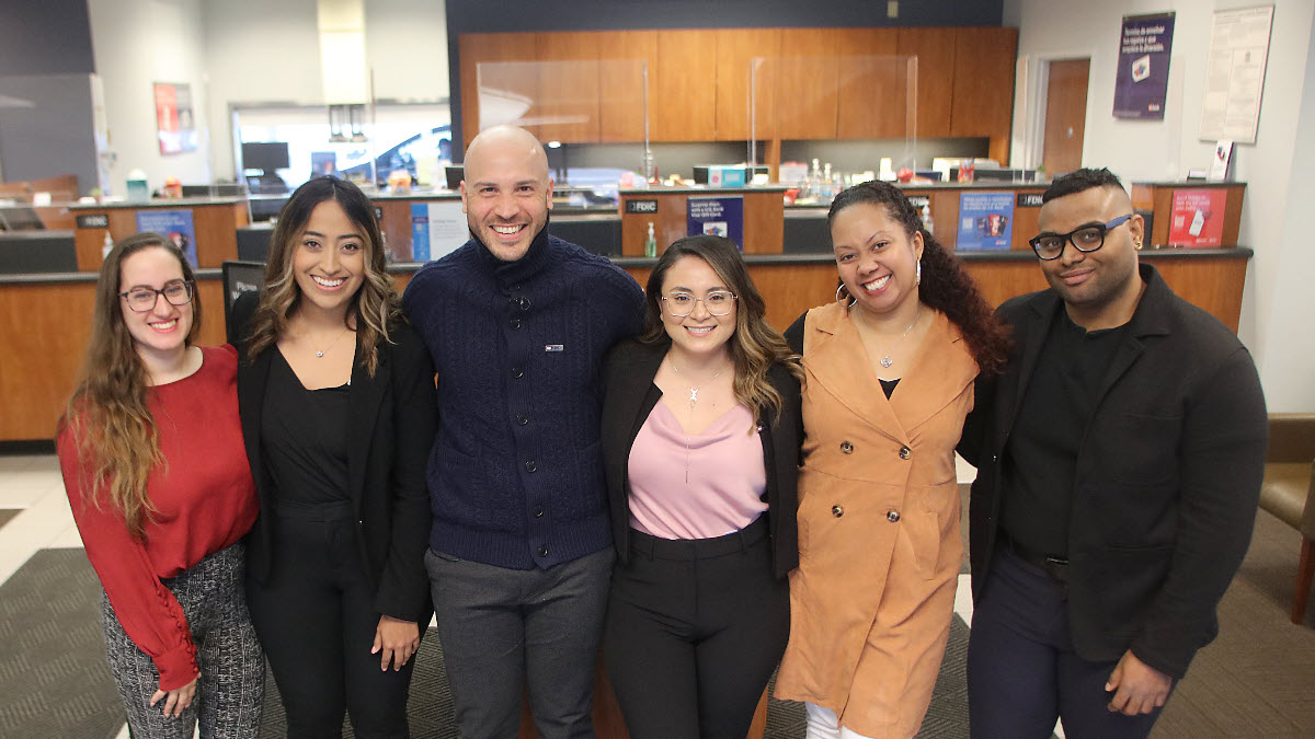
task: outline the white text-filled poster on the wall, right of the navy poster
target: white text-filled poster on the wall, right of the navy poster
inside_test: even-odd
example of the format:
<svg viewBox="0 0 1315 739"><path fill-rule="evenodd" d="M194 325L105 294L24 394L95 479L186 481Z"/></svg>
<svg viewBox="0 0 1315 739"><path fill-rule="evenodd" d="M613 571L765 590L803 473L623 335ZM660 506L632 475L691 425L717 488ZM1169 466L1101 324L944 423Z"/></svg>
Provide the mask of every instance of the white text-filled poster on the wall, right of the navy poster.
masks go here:
<svg viewBox="0 0 1315 739"><path fill-rule="evenodd" d="M1215 11L1206 59L1201 138L1256 143L1274 7Z"/></svg>

